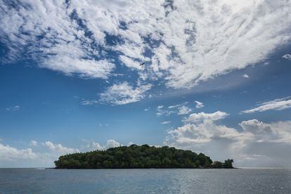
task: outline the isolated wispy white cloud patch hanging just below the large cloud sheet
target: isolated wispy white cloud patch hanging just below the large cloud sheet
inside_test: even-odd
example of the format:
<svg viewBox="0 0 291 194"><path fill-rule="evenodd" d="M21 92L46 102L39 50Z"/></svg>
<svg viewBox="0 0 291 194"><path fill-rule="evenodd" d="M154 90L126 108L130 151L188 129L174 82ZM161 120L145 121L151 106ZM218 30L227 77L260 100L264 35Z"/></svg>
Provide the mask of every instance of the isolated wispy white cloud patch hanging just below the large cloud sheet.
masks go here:
<svg viewBox="0 0 291 194"><path fill-rule="evenodd" d="M101 93L101 102L124 105L141 101L145 97L145 92L151 88L150 84L138 85L136 88L130 86L128 82L114 84L105 93Z"/></svg>

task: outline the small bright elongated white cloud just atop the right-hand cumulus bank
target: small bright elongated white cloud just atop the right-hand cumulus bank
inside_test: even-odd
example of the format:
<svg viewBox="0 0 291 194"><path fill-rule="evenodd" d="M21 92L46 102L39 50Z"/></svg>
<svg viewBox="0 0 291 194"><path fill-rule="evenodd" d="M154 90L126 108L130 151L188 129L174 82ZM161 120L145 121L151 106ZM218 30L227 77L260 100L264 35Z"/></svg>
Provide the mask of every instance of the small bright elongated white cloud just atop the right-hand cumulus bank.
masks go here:
<svg viewBox="0 0 291 194"><path fill-rule="evenodd" d="M227 116L228 114L226 112L221 111L217 111L214 113L199 112L189 115L188 118L183 119L183 122L202 122L204 120L216 121L219 119L224 119Z"/></svg>

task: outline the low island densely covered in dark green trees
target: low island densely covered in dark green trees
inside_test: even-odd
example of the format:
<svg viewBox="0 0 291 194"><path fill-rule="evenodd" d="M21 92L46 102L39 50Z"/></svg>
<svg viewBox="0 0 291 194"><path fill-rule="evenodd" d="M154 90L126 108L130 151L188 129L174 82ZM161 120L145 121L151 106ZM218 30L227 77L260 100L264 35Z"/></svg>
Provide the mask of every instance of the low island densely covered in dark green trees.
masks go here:
<svg viewBox="0 0 291 194"><path fill-rule="evenodd" d="M130 145L62 155L56 169L233 168L233 160L214 161L202 153L168 146Z"/></svg>

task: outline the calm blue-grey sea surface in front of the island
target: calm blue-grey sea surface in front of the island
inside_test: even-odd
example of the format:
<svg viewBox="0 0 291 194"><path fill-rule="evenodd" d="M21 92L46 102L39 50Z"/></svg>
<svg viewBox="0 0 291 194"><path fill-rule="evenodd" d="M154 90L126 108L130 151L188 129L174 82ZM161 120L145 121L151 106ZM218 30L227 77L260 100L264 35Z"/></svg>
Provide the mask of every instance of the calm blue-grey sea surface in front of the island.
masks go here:
<svg viewBox="0 0 291 194"><path fill-rule="evenodd" d="M291 169L0 169L0 193L291 193Z"/></svg>

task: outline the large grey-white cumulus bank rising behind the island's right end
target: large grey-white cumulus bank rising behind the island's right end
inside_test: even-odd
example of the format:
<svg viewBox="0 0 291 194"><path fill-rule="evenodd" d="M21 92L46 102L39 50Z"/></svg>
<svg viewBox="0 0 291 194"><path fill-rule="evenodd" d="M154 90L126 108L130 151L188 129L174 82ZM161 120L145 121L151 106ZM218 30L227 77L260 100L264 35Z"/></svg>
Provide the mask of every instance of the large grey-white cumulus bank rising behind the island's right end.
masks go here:
<svg viewBox="0 0 291 194"><path fill-rule="evenodd" d="M238 167L290 167L291 121L251 119L241 122L239 130L216 124L223 118L203 116L199 122L169 130L165 144L206 153L214 160L234 158Z"/></svg>

